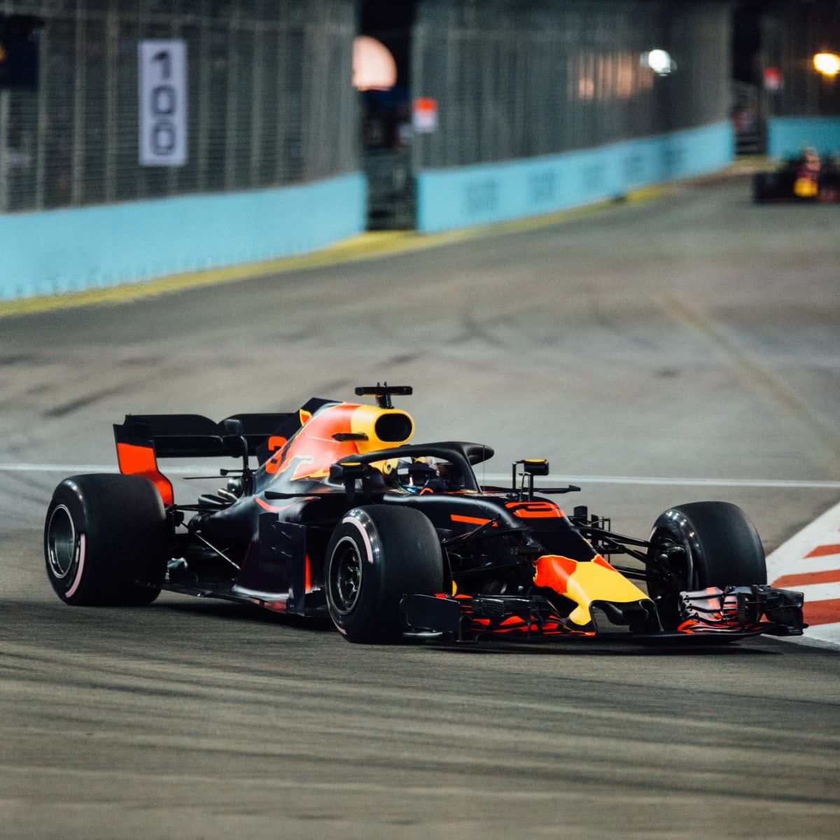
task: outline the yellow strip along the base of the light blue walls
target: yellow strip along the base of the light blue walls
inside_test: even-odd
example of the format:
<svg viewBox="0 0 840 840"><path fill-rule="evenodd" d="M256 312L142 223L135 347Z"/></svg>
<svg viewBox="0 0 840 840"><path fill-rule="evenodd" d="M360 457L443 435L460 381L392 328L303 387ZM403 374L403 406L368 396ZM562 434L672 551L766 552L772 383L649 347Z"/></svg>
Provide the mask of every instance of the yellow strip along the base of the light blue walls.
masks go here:
<svg viewBox="0 0 840 840"><path fill-rule="evenodd" d="M667 186L645 187L628 193L626 201L650 201L663 196L667 190ZM600 202L587 204L584 207L561 210L558 213L515 219L511 222L486 224L475 228L460 228L442 234L423 235L417 234L413 230L372 231L359 234L352 239L345 239L343 242L329 245L327 248L313 251L310 254L281 257L276 260L245 263L244 265L230 265L226 268L188 271L183 274L160 277L156 280L123 283L119 286L109 286L102 289L87 289L86 291L71 291L2 301L0 302L0 318L97 304L114 305L140 300L144 297L155 297L176 291L194 289L199 286L216 286L218 283L285 274L288 271L322 268L327 265L339 265L360 260L373 260L378 257L438 248L441 245L464 242L468 239L483 239L487 236L549 228L555 224L583 218L592 213L599 213L606 210L607 207L612 207L615 203L612 199L604 199Z"/></svg>

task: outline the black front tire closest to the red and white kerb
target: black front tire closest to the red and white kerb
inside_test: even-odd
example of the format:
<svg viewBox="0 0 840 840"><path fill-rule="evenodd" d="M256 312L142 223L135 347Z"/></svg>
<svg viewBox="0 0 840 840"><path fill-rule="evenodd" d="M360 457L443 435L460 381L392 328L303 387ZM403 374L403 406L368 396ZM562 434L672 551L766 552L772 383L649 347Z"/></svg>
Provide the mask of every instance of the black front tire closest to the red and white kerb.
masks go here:
<svg viewBox="0 0 840 840"><path fill-rule="evenodd" d="M671 545L683 549L670 555L670 583L648 576L648 592L654 598L708 586L767 583L759 533L747 514L727 501L671 507L654 522L649 542L651 570L656 570L664 549Z"/></svg>

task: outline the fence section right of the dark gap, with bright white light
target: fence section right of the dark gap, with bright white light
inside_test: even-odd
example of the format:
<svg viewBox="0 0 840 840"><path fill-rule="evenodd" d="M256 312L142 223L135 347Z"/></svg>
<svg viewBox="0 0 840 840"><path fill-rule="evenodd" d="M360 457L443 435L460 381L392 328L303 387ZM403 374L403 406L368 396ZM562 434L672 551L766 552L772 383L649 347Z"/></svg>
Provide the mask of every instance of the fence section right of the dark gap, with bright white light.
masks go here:
<svg viewBox="0 0 840 840"><path fill-rule="evenodd" d="M416 96L439 127L415 141L416 171L584 149L727 119L726 3L422 0ZM667 50L676 70L642 65Z"/></svg>

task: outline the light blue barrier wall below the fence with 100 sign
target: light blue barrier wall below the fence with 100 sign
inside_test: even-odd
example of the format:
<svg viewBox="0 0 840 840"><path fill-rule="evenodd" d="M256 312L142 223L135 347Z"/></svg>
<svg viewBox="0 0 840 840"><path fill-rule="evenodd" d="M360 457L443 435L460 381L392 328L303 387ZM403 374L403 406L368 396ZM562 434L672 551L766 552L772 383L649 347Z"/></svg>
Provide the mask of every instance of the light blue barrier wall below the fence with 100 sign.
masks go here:
<svg viewBox="0 0 840 840"><path fill-rule="evenodd" d="M300 254L365 229L365 176L0 215L0 297Z"/></svg>

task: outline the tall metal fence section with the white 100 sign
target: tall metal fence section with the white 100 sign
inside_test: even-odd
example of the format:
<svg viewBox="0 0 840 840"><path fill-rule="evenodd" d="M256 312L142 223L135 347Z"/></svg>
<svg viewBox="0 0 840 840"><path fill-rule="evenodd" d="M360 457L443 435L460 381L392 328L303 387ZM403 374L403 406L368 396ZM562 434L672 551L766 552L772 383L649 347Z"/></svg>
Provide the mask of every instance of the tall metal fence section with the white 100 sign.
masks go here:
<svg viewBox="0 0 840 840"><path fill-rule="evenodd" d="M0 213L294 184L360 168L354 0L0 0L36 90L0 91ZM187 154L139 165L138 44L183 39Z"/></svg>

